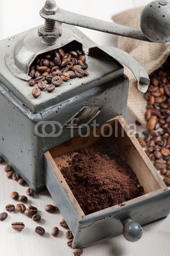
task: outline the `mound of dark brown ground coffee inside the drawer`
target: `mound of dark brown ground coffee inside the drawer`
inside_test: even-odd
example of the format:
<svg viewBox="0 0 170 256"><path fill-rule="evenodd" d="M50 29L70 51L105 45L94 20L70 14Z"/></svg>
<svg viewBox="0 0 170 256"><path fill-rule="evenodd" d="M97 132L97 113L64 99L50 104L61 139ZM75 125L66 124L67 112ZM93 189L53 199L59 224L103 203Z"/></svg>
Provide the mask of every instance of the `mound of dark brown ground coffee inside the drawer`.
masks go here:
<svg viewBox="0 0 170 256"><path fill-rule="evenodd" d="M82 148L69 156L68 166L63 166L61 173L85 214L144 194L132 168L104 145Z"/></svg>

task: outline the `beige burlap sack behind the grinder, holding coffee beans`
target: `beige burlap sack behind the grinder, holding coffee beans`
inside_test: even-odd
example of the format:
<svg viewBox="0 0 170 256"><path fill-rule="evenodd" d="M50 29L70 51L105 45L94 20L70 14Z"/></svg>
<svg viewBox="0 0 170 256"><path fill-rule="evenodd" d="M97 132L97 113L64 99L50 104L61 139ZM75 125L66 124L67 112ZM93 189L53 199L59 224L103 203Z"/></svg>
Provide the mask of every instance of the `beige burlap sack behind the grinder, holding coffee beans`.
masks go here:
<svg viewBox="0 0 170 256"><path fill-rule="evenodd" d="M125 26L140 28L140 16L142 10L143 7L133 8L114 15L112 20ZM144 65L148 74L151 74L161 67L164 61L166 61L170 52L170 43L148 43L118 36L118 48L134 56ZM139 120L139 122L141 122L142 125L145 126L146 120L144 118L144 113L146 111L146 100L143 98L143 93L137 90L132 72L130 72L127 68L125 68L125 72L127 76L130 77L128 110L135 116L137 120Z"/></svg>

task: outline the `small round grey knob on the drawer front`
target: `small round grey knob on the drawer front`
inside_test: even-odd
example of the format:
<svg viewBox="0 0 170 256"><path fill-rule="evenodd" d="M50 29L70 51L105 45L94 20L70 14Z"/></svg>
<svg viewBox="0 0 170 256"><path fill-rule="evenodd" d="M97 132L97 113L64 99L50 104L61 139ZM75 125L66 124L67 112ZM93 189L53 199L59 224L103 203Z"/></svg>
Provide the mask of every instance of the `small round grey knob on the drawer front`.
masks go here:
<svg viewBox="0 0 170 256"><path fill-rule="evenodd" d="M139 241L143 236L143 228L137 222L132 221L130 218L123 221L123 236L128 241L134 243Z"/></svg>

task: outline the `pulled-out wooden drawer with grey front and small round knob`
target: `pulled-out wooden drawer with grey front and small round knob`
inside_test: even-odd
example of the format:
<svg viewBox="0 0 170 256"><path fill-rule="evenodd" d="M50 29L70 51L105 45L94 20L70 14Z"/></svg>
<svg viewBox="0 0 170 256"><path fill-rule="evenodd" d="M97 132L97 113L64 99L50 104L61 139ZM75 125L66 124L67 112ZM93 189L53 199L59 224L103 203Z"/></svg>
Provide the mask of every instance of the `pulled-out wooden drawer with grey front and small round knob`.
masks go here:
<svg viewBox="0 0 170 256"><path fill-rule="evenodd" d="M45 184L72 231L74 248L117 236L122 232L129 241L137 241L142 236L141 225L163 218L170 212L170 191L122 116L95 129L95 135L91 130L88 137L77 136L45 152ZM66 164L66 159L62 156L101 142L111 150L118 147L137 176L139 184L143 186L145 194L86 215L60 171Z"/></svg>

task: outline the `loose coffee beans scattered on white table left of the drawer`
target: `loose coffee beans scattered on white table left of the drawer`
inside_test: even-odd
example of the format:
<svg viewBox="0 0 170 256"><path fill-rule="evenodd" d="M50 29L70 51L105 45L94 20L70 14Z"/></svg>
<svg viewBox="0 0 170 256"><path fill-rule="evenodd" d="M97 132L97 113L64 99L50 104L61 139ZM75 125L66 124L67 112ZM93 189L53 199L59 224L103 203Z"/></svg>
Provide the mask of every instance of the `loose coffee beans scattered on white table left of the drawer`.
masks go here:
<svg viewBox="0 0 170 256"><path fill-rule="evenodd" d="M3 158L0 157L0 163L3 162ZM15 173L12 169L12 167L7 164L6 166L4 166L4 171L7 172L7 176L9 173L10 174L10 178L9 179L13 179L13 174L15 174L15 177L17 177L16 179L13 179L13 180L17 180L19 182L19 180L22 180L20 178L20 176ZM21 182L22 184L21 185L24 185L26 184L26 182L23 180L23 182ZM20 184L20 182L19 182ZM27 188L26 190L26 194L27 196L33 196L35 193L35 191L32 189L32 188ZM19 193L17 191L13 191L11 194L10 194L11 198L15 201L19 201L21 203L17 204L16 206L13 205L13 204L8 204L6 205L5 209L7 212L15 212L15 210L17 212L20 212L22 214L24 214L25 216L27 216L28 218L32 218L33 221L35 222L39 222L41 221L41 216L38 214L38 209L33 206L33 205L24 205L23 203L27 203L27 196L20 196ZM54 213L56 211L59 211L58 207L56 205L45 205L45 211L46 212L49 212L49 213ZM7 218L8 218L8 213L7 212L1 212L0 213L0 221L5 221ZM63 228L67 228L68 229L68 225L66 223L66 221L63 219L59 225ZM18 232L22 231L25 227L25 224L21 221L19 222L13 222L11 224L11 227L13 228L13 230L16 230ZM36 227L35 228L35 232L36 234L38 234L39 236L43 236L43 234L45 234L45 229L43 227ZM52 230L51 230L51 235L53 237L58 237L58 234L59 234L59 228L58 227L53 227ZM72 232L70 230L68 230L66 232L66 238L69 239L68 242L67 242L67 246L70 246L72 248L72 241L73 241L73 235L72 235ZM83 253L83 250L82 248L75 248L73 249L73 255L81 255Z"/></svg>

